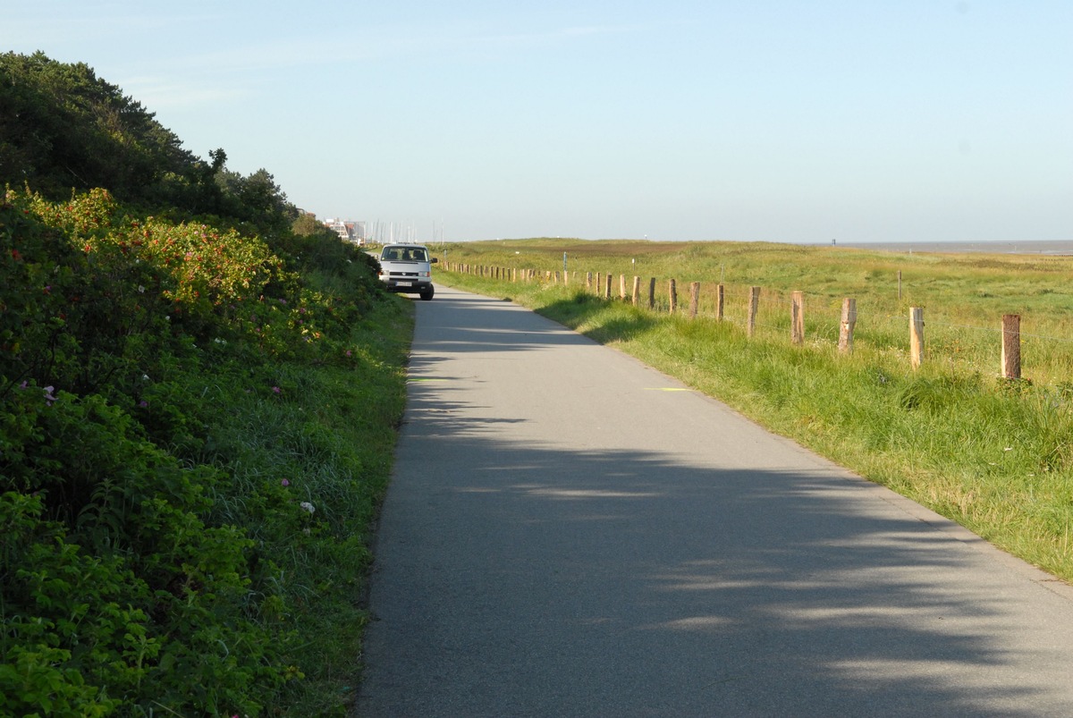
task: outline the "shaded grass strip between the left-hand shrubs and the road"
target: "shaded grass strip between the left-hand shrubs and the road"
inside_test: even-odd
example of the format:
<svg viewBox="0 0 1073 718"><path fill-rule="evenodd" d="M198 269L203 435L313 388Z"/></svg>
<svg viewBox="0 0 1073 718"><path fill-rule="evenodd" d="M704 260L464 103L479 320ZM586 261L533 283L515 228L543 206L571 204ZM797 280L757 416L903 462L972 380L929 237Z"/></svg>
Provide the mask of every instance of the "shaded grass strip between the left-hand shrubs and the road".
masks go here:
<svg viewBox="0 0 1073 718"><path fill-rule="evenodd" d="M273 597L259 618L280 627L303 678L266 706L273 715L341 716L353 700L371 530L406 404L412 328L410 304L392 297L353 327L351 366L229 363L210 382L191 378L191 390L218 394L204 458L231 484L215 497L217 519L248 527L252 551L271 565L252 587Z"/></svg>

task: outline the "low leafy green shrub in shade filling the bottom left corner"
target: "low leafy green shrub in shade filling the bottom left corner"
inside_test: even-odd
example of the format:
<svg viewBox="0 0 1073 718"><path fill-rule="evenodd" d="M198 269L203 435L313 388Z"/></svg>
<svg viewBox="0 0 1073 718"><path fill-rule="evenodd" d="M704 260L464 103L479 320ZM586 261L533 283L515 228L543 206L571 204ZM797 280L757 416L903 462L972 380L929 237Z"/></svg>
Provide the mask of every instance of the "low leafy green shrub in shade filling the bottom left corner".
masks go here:
<svg viewBox="0 0 1073 718"><path fill-rule="evenodd" d="M255 712L282 671L241 610L250 540L201 518L223 477L179 466L98 396L27 387L5 408L23 426L4 426L0 463L4 707L56 715L62 687L105 706Z"/></svg>

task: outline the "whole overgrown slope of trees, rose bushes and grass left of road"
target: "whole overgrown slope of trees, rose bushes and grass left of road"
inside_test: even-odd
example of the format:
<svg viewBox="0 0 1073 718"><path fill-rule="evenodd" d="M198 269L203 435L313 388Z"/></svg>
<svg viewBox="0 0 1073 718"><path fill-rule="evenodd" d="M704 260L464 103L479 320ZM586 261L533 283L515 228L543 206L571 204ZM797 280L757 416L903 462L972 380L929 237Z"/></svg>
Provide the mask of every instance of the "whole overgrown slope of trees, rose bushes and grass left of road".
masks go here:
<svg viewBox="0 0 1073 718"><path fill-rule="evenodd" d="M344 715L409 303L86 65L0 107L0 715Z"/></svg>

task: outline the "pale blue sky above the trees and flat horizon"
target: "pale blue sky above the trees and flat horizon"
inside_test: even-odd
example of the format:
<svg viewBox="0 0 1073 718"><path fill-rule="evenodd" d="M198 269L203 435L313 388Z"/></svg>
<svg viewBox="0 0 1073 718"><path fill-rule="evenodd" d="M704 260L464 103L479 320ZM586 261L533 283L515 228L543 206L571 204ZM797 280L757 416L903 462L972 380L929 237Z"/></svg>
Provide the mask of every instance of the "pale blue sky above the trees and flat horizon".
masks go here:
<svg viewBox="0 0 1073 718"><path fill-rule="evenodd" d="M431 239L1073 239L1070 0L2 0L319 217Z"/></svg>

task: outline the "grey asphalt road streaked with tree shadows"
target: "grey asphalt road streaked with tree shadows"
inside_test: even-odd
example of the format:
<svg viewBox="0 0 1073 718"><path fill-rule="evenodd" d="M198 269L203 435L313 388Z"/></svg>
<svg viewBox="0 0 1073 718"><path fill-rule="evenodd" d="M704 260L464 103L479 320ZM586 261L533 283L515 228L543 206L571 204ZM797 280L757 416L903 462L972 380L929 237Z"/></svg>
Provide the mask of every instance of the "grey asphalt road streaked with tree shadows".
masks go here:
<svg viewBox="0 0 1073 718"><path fill-rule="evenodd" d="M1073 715L1064 584L526 309L416 309L358 716Z"/></svg>

